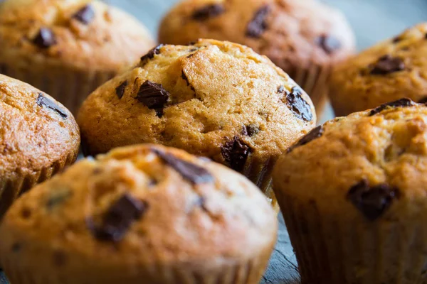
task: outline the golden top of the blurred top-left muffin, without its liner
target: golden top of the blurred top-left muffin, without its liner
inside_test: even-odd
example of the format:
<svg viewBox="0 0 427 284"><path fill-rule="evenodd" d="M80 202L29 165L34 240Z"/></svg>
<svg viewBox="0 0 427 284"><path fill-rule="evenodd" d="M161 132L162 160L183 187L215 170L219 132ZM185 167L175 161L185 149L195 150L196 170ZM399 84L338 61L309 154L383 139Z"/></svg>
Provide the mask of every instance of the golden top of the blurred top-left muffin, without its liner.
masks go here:
<svg viewBox="0 0 427 284"><path fill-rule="evenodd" d="M101 1L6 0L0 4L1 57L95 70L132 65L154 46L135 18Z"/></svg>

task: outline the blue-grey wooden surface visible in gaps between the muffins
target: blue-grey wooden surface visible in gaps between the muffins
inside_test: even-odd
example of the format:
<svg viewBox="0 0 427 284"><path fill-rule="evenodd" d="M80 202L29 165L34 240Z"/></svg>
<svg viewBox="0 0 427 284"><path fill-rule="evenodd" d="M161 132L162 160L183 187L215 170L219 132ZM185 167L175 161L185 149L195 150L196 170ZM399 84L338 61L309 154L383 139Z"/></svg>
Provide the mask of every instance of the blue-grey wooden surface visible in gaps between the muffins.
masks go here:
<svg viewBox="0 0 427 284"><path fill-rule="evenodd" d="M156 35L159 19L176 0L105 0L139 18ZM342 9L357 35L359 49L400 33L404 28L427 20L426 0L325 0ZM321 121L332 118L327 111ZM263 277L263 284L300 283L295 255L290 245L283 217L279 217L278 244ZM0 284L7 284L0 272Z"/></svg>

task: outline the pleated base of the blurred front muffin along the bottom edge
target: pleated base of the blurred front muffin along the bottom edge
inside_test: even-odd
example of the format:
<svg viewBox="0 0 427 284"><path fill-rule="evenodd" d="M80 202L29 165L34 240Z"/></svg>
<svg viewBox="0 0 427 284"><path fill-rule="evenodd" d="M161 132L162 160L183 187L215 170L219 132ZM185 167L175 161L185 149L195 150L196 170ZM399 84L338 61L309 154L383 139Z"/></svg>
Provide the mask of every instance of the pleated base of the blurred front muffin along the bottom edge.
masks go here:
<svg viewBox="0 0 427 284"><path fill-rule="evenodd" d="M273 247L271 248L273 249ZM122 280L132 281L132 283L180 283L180 284L258 284L268 265L270 251L265 251L262 256L253 258L249 261L244 261L240 264L231 264L223 266L221 269L195 269L185 268L184 266L169 267L157 265L155 267L146 268L140 271L141 274L135 279L127 279L123 276ZM56 269L43 269L45 273L38 269L31 269L21 266L21 263L16 263L5 256L3 258L4 271L7 278L14 284L78 284L78 283L101 283L102 284L117 284L117 275L108 280L108 271L99 271L97 278L96 271L92 271L87 275L84 273L64 273L58 272ZM85 271L82 267L82 271ZM83 275L83 276L82 276ZM144 277L142 277L144 276ZM83 278L84 277L84 278ZM60 280L59 280L60 279ZM106 280L107 279L107 280Z"/></svg>

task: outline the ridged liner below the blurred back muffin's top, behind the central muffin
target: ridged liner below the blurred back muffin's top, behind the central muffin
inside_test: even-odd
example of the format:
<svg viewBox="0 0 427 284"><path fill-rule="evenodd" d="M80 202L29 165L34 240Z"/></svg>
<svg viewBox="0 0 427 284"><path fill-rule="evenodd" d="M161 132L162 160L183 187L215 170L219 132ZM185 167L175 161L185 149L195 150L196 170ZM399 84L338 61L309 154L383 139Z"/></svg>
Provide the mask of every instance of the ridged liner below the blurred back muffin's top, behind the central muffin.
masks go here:
<svg viewBox="0 0 427 284"><path fill-rule="evenodd" d="M288 75L304 89L315 105L317 118L320 118L325 110L329 92L328 80L332 72L329 65L312 65L309 68L288 70Z"/></svg>

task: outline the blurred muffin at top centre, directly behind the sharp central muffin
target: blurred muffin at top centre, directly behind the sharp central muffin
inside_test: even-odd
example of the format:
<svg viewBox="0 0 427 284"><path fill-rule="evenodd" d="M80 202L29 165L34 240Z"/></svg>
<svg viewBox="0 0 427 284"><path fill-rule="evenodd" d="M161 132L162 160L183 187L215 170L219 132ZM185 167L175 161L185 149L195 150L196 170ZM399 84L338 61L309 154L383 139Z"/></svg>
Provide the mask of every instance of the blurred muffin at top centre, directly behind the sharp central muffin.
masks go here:
<svg viewBox="0 0 427 284"><path fill-rule="evenodd" d="M341 12L314 0L185 0L164 17L160 43L230 40L267 55L310 95L320 116L332 65L354 52Z"/></svg>

